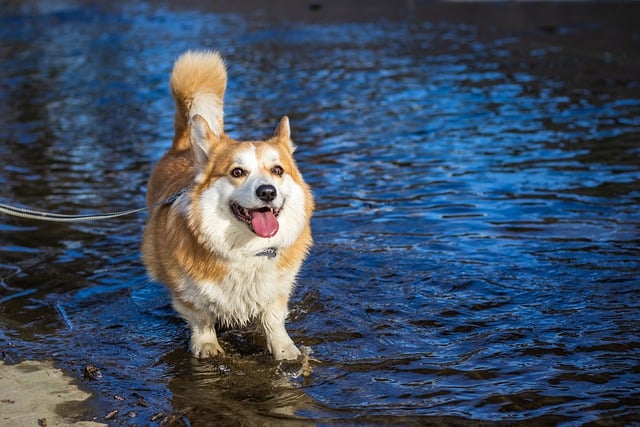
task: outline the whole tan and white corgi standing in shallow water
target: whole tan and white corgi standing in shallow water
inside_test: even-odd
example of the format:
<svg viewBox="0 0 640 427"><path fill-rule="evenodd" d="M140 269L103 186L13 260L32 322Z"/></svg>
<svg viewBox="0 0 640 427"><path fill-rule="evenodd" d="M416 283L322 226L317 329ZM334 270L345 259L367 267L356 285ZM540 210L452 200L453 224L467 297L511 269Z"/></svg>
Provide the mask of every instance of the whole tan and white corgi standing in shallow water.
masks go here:
<svg viewBox="0 0 640 427"><path fill-rule="evenodd" d="M224 353L216 327L255 323L274 359L296 359L285 319L312 244L313 197L286 116L265 140L224 133L226 84L217 52L187 51L174 64L175 135L149 178L143 261L171 290L195 357Z"/></svg>

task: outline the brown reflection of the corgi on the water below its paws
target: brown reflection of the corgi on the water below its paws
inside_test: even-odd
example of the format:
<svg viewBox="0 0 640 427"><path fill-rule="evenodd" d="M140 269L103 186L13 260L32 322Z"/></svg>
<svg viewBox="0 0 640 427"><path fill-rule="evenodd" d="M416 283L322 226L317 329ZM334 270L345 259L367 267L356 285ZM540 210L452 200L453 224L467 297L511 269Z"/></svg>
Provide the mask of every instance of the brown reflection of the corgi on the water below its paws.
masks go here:
<svg viewBox="0 0 640 427"><path fill-rule="evenodd" d="M314 364L308 349L296 361L274 361L262 339L228 330L220 334L224 355L197 359L186 348L165 355L175 369L168 387L176 425L268 425L317 410L303 390Z"/></svg>

